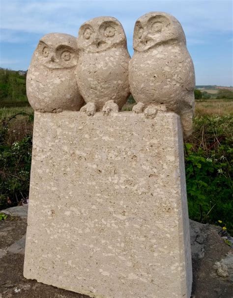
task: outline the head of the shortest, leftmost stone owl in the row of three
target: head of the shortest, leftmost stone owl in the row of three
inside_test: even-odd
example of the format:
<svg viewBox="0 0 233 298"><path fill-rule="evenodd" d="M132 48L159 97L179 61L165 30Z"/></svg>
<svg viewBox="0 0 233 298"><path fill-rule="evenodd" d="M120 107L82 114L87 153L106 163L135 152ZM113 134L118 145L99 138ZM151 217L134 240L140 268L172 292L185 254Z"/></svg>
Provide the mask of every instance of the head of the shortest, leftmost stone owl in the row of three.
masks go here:
<svg viewBox="0 0 233 298"><path fill-rule="evenodd" d="M44 35L40 39L32 58L32 64L39 64L50 69L74 67L77 61L76 38L62 33Z"/></svg>

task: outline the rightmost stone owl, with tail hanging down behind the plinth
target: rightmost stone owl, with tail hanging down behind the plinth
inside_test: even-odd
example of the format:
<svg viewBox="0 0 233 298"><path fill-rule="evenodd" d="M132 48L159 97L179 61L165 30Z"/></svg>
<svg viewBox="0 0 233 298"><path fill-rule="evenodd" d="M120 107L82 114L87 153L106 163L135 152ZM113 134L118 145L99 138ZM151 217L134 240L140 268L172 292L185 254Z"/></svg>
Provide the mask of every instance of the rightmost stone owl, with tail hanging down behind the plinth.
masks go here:
<svg viewBox="0 0 233 298"><path fill-rule="evenodd" d="M180 115L184 136L192 133L195 73L180 23L164 12L140 17L134 27L134 55L129 64L136 113L157 110Z"/></svg>

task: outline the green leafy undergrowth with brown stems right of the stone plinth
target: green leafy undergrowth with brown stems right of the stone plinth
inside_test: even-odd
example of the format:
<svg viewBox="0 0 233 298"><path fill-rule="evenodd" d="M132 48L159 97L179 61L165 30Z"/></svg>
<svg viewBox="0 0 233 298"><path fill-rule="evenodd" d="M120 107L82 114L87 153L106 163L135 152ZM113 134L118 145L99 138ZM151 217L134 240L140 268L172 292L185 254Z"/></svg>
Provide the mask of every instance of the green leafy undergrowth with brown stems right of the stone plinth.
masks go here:
<svg viewBox="0 0 233 298"><path fill-rule="evenodd" d="M233 119L199 117L194 130L192 143L185 144L189 217L211 224L221 221L233 234Z"/></svg>

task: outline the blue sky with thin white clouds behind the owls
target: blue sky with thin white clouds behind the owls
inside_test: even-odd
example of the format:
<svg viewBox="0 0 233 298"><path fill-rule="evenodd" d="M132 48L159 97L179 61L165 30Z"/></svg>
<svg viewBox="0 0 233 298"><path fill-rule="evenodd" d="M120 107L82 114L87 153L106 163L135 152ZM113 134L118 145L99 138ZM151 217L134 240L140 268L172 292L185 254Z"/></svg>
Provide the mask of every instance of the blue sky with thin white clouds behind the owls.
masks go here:
<svg viewBox="0 0 233 298"><path fill-rule="evenodd" d="M0 0L0 67L26 70L42 35L77 36L81 24L104 15L122 23L132 56L135 21L149 11L180 21L197 85L233 85L232 0Z"/></svg>

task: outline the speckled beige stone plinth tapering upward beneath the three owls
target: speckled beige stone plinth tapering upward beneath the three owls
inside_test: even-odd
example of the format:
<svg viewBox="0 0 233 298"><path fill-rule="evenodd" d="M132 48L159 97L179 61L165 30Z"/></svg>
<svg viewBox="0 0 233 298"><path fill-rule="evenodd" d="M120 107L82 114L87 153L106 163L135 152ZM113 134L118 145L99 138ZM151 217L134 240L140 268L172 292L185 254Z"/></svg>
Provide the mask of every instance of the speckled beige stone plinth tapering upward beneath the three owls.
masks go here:
<svg viewBox="0 0 233 298"><path fill-rule="evenodd" d="M24 276L96 298L190 297L179 116L35 112Z"/></svg>

